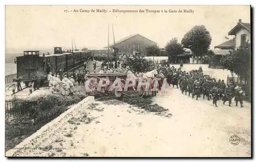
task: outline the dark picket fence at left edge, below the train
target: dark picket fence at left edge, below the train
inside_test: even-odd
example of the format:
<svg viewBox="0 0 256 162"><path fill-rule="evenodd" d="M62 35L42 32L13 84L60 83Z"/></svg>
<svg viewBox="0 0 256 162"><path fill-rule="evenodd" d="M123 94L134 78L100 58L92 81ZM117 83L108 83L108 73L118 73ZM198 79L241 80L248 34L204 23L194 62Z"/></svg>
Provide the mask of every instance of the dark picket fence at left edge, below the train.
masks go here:
<svg viewBox="0 0 256 162"><path fill-rule="evenodd" d="M29 115L37 109L37 101L30 102L5 102L6 118L19 115Z"/></svg>

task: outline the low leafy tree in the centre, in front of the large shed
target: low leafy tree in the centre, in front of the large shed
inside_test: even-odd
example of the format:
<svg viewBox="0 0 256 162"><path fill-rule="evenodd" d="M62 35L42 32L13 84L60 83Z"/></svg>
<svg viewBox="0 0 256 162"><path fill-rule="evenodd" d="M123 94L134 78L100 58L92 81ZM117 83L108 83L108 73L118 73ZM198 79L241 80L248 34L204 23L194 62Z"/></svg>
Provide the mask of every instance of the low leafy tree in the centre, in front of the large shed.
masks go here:
<svg viewBox="0 0 256 162"><path fill-rule="evenodd" d="M125 62L134 74L139 76L140 73L145 73L156 69L156 63L153 60L147 60L144 56L134 55L133 58L126 58Z"/></svg>

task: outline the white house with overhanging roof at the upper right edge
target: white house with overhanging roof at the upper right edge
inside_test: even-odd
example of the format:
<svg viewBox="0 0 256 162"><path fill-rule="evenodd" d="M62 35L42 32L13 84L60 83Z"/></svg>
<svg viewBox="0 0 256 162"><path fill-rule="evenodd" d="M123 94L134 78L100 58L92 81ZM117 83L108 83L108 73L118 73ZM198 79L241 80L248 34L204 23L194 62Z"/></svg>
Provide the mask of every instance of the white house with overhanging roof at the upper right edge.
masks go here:
<svg viewBox="0 0 256 162"><path fill-rule="evenodd" d="M242 22L242 19L239 19L238 24L228 32L228 35L234 36L234 44L238 48L247 41L251 41L251 24Z"/></svg>

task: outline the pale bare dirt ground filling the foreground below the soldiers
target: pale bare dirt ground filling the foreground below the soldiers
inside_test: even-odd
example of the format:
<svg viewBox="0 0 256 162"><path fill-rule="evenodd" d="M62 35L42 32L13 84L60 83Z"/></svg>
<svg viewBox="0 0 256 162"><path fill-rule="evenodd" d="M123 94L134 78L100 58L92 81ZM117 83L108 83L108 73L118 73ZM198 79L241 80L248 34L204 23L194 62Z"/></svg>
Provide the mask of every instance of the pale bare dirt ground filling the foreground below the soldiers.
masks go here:
<svg viewBox="0 0 256 162"><path fill-rule="evenodd" d="M153 100L172 113L164 118L152 113L141 114L130 105L99 105L82 110L74 117L79 125L67 122L40 147L63 147L62 150L22 150L18 156L251 156L251 105L245 107L212 105L169 88ZM96 117L91 123L84 114ZM69 136L65 135L69 133ZM232 135L240 138L231 145ZM30 144L30 146L33 146Z"/></svg>

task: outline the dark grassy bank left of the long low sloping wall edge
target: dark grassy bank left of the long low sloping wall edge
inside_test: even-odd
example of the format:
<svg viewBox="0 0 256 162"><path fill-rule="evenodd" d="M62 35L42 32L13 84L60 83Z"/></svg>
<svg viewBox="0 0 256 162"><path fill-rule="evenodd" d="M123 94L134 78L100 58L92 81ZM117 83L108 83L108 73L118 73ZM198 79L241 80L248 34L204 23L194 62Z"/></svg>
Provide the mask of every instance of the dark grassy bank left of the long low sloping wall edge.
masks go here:
<svg viewBox="0 0 256 162"><path fill-rule="evenodd" d="M78 89L73 96L46 95L37 96L30 99L14 98L13 101L37 101L37 109L31 111L33 114L6 118L5 120L5 145L6 151L15 147L31 134L35 133L42 126L49 123L63 112L70 108L70 105L78 103L86 97L83 87ZM71 121L69 121L71 122ZM79 123L75 123L79 125Z"/></svg>

